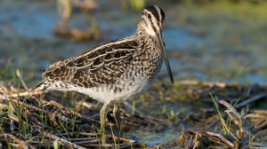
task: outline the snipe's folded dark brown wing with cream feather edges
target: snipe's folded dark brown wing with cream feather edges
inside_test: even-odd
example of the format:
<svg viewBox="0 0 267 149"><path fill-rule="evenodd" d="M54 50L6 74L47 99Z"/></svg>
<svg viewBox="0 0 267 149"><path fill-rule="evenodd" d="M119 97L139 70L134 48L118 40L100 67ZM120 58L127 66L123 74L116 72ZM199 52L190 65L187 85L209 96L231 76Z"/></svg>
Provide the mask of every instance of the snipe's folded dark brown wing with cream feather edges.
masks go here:
<svg viewBox="0 0 267 149"><path fill-rule="evenodd" d="M77 57L54 63L44 70L51 81L94 87L115 82L134 59L138 44L120 39L85 51Z"/></svg>

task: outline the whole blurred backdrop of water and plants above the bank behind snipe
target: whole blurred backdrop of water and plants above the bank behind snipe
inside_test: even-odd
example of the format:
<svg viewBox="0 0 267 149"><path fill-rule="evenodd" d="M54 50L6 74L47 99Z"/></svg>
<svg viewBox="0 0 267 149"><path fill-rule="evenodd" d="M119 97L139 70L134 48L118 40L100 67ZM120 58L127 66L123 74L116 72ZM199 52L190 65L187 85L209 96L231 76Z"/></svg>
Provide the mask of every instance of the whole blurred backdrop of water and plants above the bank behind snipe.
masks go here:
<svg viewBox="0 0 267 149"><path fill-rule="evenodd" d="M166 12L163 39L176 83L266 84L263 0L1 0L0 80L15 82L19 68L34 86L52 63L133 35L150 4Z"/></svg>

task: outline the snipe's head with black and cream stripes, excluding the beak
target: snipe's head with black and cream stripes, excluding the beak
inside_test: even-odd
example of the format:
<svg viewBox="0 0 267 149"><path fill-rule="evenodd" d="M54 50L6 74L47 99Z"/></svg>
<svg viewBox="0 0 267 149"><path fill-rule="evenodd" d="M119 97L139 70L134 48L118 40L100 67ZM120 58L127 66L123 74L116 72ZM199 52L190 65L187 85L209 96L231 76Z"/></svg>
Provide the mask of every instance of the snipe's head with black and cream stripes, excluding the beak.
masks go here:
<svg viewBox="0 0 267 149"><path fill-rule="evenodd" d="M142 12L141 19L138 24L138 30L145 30L149 35L156 35L162 31L165 13L157 5L152 5Z"/></svg>

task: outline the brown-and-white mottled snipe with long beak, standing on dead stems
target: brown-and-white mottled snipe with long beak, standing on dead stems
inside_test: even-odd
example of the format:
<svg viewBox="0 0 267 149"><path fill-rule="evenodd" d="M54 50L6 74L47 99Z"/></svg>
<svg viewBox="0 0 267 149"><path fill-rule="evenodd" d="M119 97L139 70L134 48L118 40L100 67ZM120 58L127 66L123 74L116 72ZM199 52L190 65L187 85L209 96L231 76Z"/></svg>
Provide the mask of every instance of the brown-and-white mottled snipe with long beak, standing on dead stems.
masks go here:
<svg viewBox="0 0 267 149"><path fill-rule="evenodd" d="M43 71L38 90L77 91L103 103L100 111L101 142L109 103L118 121L119 102L138 98L150 88L165 61L170 81L174 77L162 39L165 12L158 5L146 7L134 35L95 46L76 57L58 61Z"/></svg>

